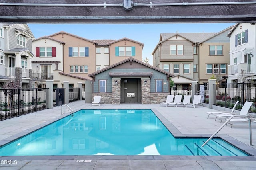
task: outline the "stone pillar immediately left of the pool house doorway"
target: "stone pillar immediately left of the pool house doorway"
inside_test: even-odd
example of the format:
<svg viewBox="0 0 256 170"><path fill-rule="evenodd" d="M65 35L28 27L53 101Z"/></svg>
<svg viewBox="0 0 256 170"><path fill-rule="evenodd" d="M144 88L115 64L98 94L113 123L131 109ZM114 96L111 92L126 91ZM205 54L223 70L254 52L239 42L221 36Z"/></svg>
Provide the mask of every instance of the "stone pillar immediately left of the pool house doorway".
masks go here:
<svg viewBox="0 0 256 170"><path fill-rule="evenodd" d="M112 104L120 104L120 103L121 103L121 78L112 78Z"/></svg>

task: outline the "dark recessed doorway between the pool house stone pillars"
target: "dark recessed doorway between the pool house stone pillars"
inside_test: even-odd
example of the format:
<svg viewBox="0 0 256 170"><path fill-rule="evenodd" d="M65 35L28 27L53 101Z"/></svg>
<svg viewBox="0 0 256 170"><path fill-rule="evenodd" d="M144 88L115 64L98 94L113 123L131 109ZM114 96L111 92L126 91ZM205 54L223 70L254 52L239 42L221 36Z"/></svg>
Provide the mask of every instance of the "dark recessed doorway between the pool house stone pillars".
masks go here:
<svg viewBox="0 0 256 170"><path fill-rule="evenodd" d="M141 102L140 78L121 78L121 102Z"/></svg>

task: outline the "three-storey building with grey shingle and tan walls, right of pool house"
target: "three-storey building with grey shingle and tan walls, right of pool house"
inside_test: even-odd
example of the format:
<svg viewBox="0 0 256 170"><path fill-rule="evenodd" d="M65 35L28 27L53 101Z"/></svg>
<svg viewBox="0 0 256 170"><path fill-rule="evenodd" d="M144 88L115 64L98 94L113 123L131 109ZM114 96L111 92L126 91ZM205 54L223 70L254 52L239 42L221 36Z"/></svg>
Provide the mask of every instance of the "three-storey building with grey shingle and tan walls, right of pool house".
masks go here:
<svg viewBox="0 0 256 170"><path fill-rule="evenodd" d="M174 86L184 89L192 81L207 83L213 74L228 74L228 27L218 33L161 33L153 65L174 74Z"/></svg>

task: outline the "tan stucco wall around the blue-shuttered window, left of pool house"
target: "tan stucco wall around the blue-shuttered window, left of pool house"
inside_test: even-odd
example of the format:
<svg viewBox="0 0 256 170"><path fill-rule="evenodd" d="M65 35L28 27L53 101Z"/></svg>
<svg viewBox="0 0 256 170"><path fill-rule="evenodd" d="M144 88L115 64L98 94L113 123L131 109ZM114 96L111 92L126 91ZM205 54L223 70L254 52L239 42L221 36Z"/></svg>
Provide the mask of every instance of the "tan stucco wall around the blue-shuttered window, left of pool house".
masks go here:
<svg viewBox="0 0 256 170"><path fill-rule="evenodd" d="M67 74L72 74L74 76L82 76L88 78L88 74L95 72L95 45L90 41L85 39L74 37L68 34L57 34L53 35L52 38L58 39L59 41L64 41L63 50L63 71ZM69 47L89 47L89 57L69 57L68 48ZM88 65L88 73L70 73L70 65Z"/></svg>

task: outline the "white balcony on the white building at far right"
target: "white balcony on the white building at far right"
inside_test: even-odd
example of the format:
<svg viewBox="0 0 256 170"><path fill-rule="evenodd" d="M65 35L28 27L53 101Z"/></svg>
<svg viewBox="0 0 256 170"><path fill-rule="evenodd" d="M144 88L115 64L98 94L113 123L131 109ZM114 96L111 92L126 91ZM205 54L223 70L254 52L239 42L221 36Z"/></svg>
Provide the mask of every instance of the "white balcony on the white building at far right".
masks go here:
<svg viewBox="0 0 256 170"><path fill-rule="evenodd" d="M228 66L230 74L241 74L241 70L245 70L245 73L255 73L255 64L239 63Z"/></svg>

